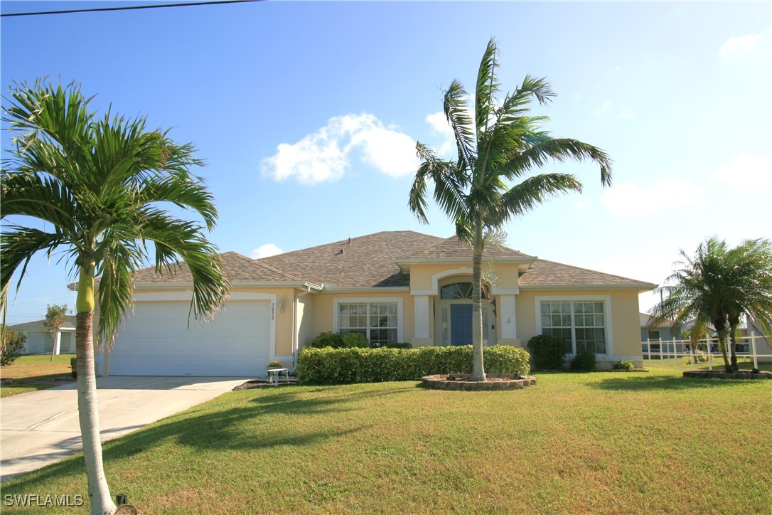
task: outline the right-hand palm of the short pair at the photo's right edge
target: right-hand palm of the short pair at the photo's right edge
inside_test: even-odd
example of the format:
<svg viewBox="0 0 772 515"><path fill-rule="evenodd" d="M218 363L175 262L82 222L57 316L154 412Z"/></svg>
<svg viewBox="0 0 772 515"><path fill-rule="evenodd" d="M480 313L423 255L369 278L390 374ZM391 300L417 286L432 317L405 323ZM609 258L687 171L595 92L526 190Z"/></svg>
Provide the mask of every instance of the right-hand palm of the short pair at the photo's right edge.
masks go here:
<svg viewBox="0 0 772 515"><path fill-rule="evenodd" d="M767 334L772 326L772 242L745 240L727 252L726 316L730 326L730 362L737 371L736 332L743 313L757 320Z"/></svg>

